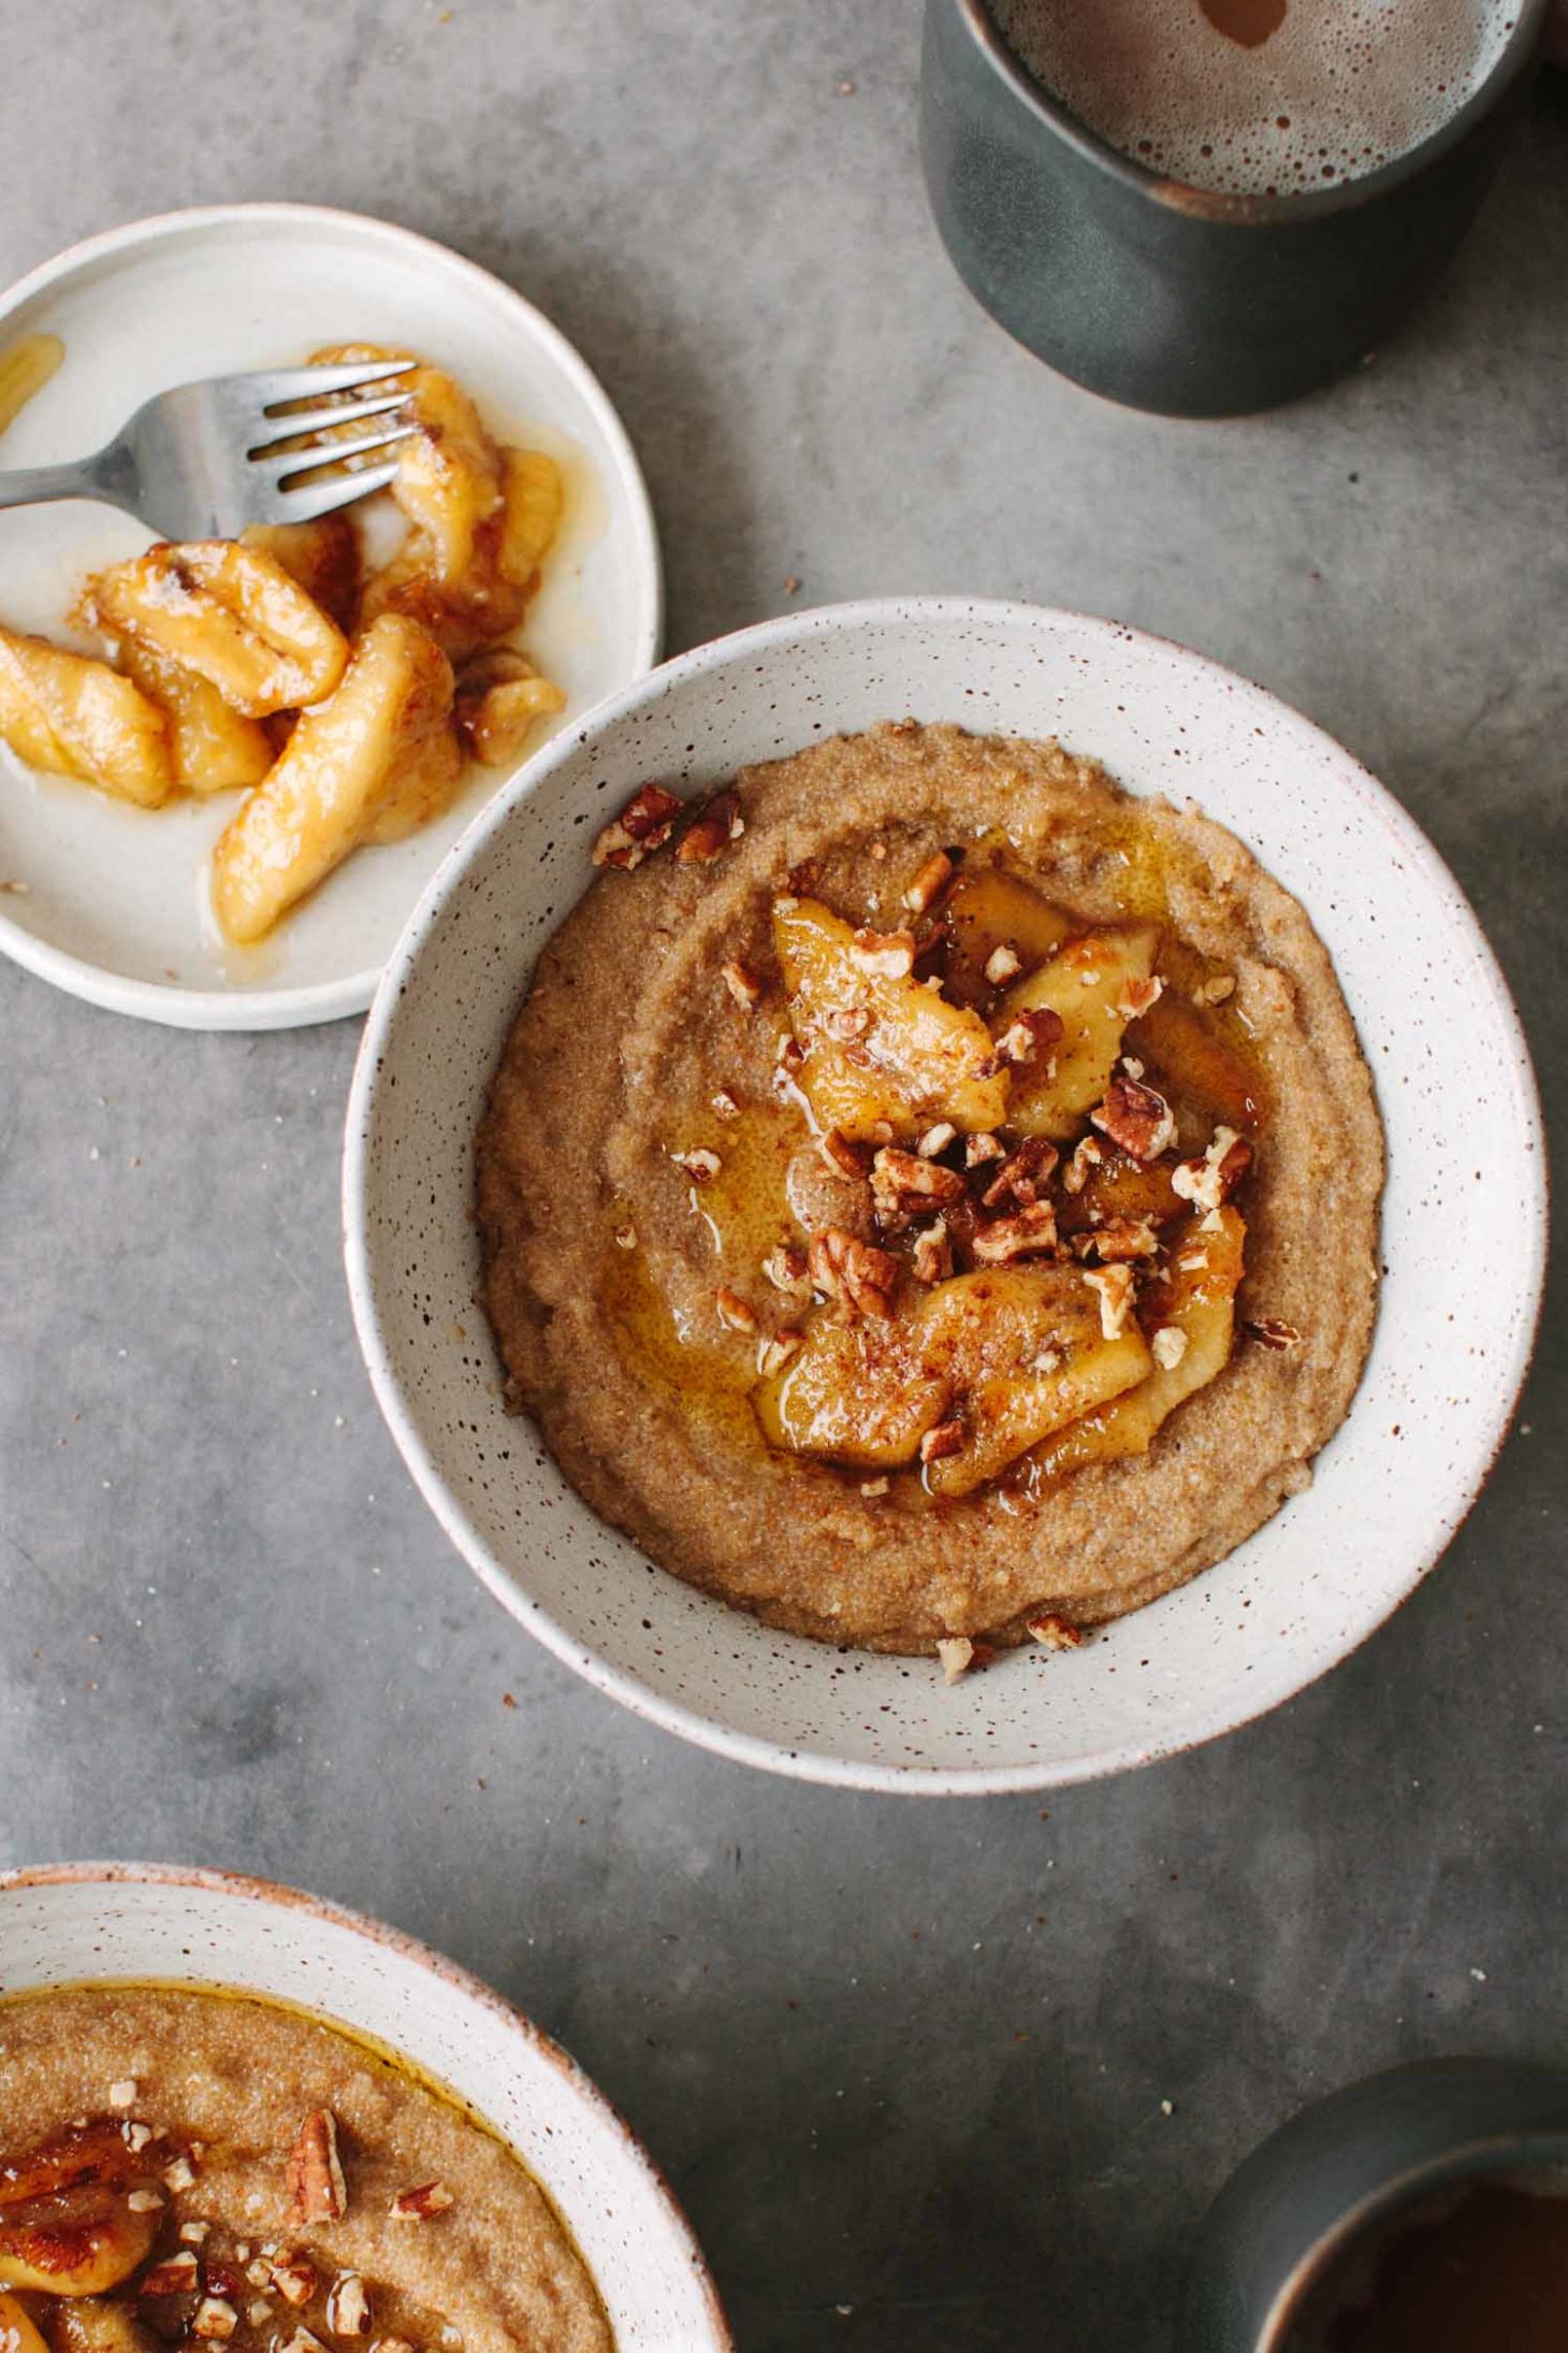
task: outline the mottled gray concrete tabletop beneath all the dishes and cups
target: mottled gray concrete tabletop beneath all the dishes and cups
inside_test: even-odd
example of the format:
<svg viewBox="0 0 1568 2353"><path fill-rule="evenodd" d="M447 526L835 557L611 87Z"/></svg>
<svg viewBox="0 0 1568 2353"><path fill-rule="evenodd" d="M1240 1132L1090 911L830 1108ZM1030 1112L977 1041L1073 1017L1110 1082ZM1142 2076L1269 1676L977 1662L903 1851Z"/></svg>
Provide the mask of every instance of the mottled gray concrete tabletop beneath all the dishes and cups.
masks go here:
<svg viewBox="0 0 1568 2353"><path fill-rule="evenodd" d="M969 304L914 71L912 0L7 0L0 278L216 198L463 247L618 400L672 647L799 574L1237 664L1455 864L1561 1111L1563 82L1396 348L1211 428L1081 398ZM343 1299L355 1024L0 995L0 1859L237 1864L447 1946L670 2167L743 2353L1157 2353L1194 2217L1298 2101L1568 2054L1552 1315L1530 1428L1328 1682L1048 1805L839 1798L646 1732L447 1551Z"/></svg>

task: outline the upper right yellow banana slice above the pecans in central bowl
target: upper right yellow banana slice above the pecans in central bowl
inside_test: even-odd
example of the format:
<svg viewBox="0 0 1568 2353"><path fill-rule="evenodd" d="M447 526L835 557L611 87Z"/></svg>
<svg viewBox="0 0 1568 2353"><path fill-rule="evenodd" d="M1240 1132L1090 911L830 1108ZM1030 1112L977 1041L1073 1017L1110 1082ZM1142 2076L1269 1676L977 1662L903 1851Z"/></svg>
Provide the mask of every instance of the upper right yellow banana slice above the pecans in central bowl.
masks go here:
<svg viewBox="0 0 1568 2353"><path fill-rule="evenodd" d="M1009 1118L1025 1136L1070 1136L1100 1101L1117 1068L1121 1031L1133 1019L1128 986L1147 981L1159 932L1150 922L1084 932L1009 988L997 1012L1004 1028L1025 1012L1060 1014L1060 1042L1013 1080Z"/></svg>

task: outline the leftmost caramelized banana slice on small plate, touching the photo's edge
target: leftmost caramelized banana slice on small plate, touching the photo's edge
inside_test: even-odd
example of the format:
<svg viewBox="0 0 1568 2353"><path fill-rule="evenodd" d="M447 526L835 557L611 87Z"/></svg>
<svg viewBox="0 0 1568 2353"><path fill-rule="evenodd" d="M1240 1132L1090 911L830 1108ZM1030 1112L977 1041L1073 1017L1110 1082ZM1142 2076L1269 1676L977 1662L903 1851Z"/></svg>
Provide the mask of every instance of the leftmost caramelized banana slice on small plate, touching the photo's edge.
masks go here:
<svg viewBox="0 0 1568 2353"><path fill-rule="evenodd" d="M169 722L106 661L0 628L0 736L49 776L155 809L174 791Z"/></svg>

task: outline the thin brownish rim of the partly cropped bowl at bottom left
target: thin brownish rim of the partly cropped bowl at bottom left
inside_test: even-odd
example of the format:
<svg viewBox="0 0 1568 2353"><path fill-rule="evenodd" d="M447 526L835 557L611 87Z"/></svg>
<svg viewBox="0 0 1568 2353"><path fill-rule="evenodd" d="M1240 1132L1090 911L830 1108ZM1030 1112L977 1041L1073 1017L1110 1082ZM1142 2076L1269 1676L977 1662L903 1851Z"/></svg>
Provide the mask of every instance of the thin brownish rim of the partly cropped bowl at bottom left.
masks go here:
<svg viewBox="0 0 1568 2353"><path fill-rule="evenodd" d="M632 2132L628 2120L614 2106L611 2099L599 2089L599 2085L578 2066L569 2049L548 2035L543 2026L536 2026L527 2009L517 2002L508 2002L503 1993L496 1993L482 1977L465 1969L458 1960L440 1953L435 1946L425 1944L421 1937L411 1937L407 1929L393 1927L388 1920L376 1920L371 1913L353 1911L348 1904L334 1904L329 1897L310 1894L306 1887L292 1887L287 1880L266 1880L249 1871L221 1871L209 1864L127 1864L127 1861L80 1861L80 1864L21 1864L14 1871L0 1871L0 1904L9 1894L26 1892L31 1887L200 1887L207 1894L235 1897L247 1904L270 1904L280 1911L301 1911L313 1920L327 1920L331 1927L350 1929L367 1944L381 1946L395 1953L400 1960L414 1962L418 1969L428 1969L454 1993L461 1993L477 2009L484 2009L498 2026L517 2035L529 2049L545 2059L555 2073L562 2078L571 2097L588 2108L609 2132L621 2141L625 2155L642 2167L649 2177L654 2195L658 2198L670 2240L684 2252L691 2264L691 2273L698 2282L703 2301L708 2304L708 2318L712 2325L712 2353L736 2353L736 2339L724 2318L724 2306L719 2301L719 2287L703 2254L696 2231L691 2228L686 2212L670 2188L663 2167L649 2155L639 2137ZM92 1977L71 1974L61 1977L61 1986L92 1984ZM306 2005L310 2007L310 2005ZM329 2012L317 2012L317 2017L329 2019ZM350 2019L341 2021L353 2028ZM522 2162L522 2160L520 2160ZM555 2200L555 2191L550 2191ZM567 2217L571 2224L571 2217ZM597 2285L597 2282L595 2282Z"/></svg>

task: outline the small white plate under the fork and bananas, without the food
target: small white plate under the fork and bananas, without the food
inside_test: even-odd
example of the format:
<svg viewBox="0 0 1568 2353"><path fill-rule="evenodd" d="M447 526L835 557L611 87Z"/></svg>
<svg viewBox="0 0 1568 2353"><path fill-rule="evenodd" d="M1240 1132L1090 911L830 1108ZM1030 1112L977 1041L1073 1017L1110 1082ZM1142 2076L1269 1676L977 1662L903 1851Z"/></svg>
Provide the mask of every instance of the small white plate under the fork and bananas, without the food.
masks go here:
<svg viewBox="0 0 1568 2353"><path fill-rule="evenodd" d="M475 393L487 421L557 456L567 522L524 642L567 689L571 727L658 659L663 598L649 494L621 419L564 336L458 254L388 221L313 205L216 205L132 221L47 261L0 299L0 351L56 334L59 374L0 435L0 466L85 456L150 393L275 367L320 344L407 344ZM82 576L150 534L106 506L0 515L0 621L68 640ZM205 861L237 795L134 809L38 776L0 746L0 948L78 998L179 1028L294 1028L364 1012L444 852L505 784L390 849L362 849L261 948L223 944Z"/></svg>

